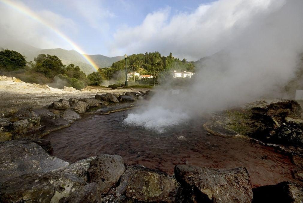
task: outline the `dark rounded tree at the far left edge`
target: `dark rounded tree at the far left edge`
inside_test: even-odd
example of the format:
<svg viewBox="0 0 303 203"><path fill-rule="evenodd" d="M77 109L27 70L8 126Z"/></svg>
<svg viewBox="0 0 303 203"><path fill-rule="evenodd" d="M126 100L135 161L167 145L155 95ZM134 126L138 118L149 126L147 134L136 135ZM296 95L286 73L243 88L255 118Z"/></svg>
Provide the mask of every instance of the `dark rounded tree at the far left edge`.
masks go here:
<svg viewBox="0 0 303 203"><path fill-rule="evenodd" d="M25 66L26 60L20 53L8 49L0 52L0 68L6 71L15 71L23 69Z"/></svg>

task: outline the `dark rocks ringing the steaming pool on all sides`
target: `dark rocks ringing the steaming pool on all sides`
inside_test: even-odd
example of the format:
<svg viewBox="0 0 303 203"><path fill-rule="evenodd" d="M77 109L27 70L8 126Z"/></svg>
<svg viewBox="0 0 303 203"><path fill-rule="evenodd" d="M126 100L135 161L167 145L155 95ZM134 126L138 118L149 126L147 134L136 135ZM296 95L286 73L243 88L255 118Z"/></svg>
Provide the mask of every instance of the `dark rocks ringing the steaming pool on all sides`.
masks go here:
<svg viewBox="0 0 303 203"><path fill-rule="evenodd" d="M0 202L302 202L300 184L286 181L252 188L244 167L176 165L174 175L169 176L144 166L126 165L121 156L107 154L69 164L49 155L50 142L40 139L85 114L106 115L134 108L152 94L107 93L60 99L47 108L2 115ZM296 101L259 101L215 114L204 127L214 135L254 139L284 149L297 166L294 177L302 181L301 113Z"/></svg>

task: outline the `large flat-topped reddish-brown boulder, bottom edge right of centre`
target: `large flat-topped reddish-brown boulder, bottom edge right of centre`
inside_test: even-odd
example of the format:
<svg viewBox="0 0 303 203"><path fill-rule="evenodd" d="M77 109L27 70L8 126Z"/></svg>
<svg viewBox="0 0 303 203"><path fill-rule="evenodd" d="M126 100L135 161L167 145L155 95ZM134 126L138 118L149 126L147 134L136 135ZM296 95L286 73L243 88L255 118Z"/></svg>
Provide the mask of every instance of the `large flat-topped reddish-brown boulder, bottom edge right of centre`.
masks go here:
<svg viewBox="0 0 303 203"><path fill-rule="evenodd" d="M251 202L251 181L245 168L213 169L176 165L175 177L194 202ZM187 191L186 191L187 190Z"/></svg>

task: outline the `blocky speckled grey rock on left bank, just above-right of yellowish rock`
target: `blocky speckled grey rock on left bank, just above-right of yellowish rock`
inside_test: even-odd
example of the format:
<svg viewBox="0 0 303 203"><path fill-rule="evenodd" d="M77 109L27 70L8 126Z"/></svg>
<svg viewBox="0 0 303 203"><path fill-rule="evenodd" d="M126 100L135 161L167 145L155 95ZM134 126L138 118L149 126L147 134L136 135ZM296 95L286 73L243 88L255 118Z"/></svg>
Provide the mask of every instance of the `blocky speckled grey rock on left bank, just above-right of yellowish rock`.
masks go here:
<svg viewBox="0 0 303 203"><path fill-rule="evenodd" d="M14 133L24 133L26 131L30 131L33 128L37 128L40 126L40 117L32 117L22 121L14 122L13 131Z"/></svg>

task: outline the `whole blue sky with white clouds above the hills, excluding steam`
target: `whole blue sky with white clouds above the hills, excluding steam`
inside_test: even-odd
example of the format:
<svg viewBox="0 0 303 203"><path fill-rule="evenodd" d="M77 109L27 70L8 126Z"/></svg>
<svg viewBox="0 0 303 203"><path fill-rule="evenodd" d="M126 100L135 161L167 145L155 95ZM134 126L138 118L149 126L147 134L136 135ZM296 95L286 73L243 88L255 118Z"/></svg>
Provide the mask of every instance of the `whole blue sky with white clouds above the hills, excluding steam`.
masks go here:
<svg viewBox="0 0 303 203"><path fill-rule="evenodd" d="M35 12L86 54L159 51L196 60L219 51L252 19L285 0L6 0ZM0 0L0 32L38 48L73 47ZM1 36L0 36L1 37ZM223 43L224 42L224 43ZM220 44L220 45L219 45Z"/></svg>

